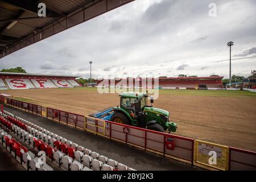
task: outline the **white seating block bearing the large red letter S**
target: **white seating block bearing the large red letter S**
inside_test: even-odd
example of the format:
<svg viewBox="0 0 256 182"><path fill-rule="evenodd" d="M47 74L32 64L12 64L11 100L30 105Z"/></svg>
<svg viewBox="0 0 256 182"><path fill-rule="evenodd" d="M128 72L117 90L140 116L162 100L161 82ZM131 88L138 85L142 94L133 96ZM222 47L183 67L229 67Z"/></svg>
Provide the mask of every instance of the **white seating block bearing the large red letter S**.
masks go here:
<svg viewBox="0 0 256 182"><path fill-rule="evenodd" d="M5 79L10 89L30 89L34 88L28 79L7 78Z"/></svg>

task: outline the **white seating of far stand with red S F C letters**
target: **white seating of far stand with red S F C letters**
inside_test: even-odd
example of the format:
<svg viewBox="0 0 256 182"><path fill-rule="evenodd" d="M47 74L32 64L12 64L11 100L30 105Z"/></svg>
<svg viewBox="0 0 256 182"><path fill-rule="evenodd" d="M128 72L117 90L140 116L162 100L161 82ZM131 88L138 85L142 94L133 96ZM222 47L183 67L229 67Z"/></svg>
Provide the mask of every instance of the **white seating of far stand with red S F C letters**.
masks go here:
<svg viewBox="0 0 256 182"><path fill-rule="evenodd" d="M25 78L6 78L10 89L30 89L30 88L73 88L80 86L75 80L65 79L25 79ZM34 86L34 85L35 86ZM7 89L5 83L0 79L0 89Z"/></svg>

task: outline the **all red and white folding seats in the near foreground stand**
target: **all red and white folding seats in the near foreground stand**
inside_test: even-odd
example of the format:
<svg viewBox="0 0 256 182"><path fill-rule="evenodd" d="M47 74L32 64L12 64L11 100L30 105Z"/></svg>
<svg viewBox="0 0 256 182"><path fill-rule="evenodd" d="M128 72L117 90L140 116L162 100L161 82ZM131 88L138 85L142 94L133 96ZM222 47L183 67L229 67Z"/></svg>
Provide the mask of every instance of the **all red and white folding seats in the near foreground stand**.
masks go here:
<svg viewBox="0 0 256 182"><path fill-rule="evenodd" d="M115 160L108 159L105 156L100 156L97 152L92 152L71 140L67 140L59 135L53 134L50 131L43 129L31 122L28 122L22 118L14 117L13 114L4 111L0 113L0 123L5 126L11 132L13 132L20 140L26 142L37 151L46 152L47 159L61 169L71 171L100 171L100 170L135 170L129 168ZM9 137L7 137L9 136ZM10 151L16 144L17 151L15 156L19 157L20 163L26 164L24 167L27 170L32 171L52 171L53 168L48 166L46 162L39 160L31 151L27 151L26 147L22 147L16 140L11 140L11 135L1 130L2 144L6 144L6 148L9 147ZM15 144L13 144L13 143ZM21 151L21 152L19 152ZM89 155L87 155L89 154Z"/></svg>

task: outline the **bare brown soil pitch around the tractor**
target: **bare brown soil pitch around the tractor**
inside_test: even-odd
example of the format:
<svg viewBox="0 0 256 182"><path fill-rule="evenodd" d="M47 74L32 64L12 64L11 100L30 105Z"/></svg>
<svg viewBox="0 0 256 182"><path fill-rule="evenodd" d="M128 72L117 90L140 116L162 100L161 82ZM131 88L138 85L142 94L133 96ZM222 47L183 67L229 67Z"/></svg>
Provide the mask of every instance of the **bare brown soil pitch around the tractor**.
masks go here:
<svg viewBox="0 0 256 182"><path fill-rule="evenodd" d="M119 105L117 94L84 89L2 90L35 104L88 115ZM160 94L154 106L171 112L176 134L256 151L256 97Z"/></svg>

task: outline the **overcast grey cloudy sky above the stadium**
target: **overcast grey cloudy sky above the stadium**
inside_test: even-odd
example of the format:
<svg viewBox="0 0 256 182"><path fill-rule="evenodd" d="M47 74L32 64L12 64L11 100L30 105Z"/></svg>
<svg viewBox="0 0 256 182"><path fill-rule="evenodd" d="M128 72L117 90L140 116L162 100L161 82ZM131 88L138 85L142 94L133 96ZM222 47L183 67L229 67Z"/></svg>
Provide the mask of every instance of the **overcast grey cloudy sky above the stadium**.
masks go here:
<svg viewBox="0 0 256 182"><path fill-rule="evenodd" d="M249 76L255 22L255 0L137 0L4 57L0 69L89 77L93 61L95 78L228 77L231 40L232 74Z"/></svg>

